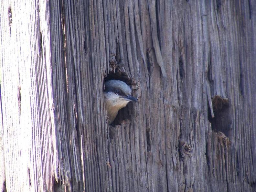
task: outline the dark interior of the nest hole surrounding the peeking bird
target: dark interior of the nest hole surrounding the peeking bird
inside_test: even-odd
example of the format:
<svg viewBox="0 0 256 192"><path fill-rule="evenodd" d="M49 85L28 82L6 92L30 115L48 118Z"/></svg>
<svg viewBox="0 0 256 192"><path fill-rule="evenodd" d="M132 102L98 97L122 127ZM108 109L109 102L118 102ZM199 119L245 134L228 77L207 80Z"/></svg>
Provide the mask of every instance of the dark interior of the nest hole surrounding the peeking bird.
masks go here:
<svg viewBox="0 0 256 192"><path fill-rule="evenodd" d="M112 70L107 76L104 78L104 83L108 80L120 80L125 82L127 85L131 87L133 85L133 80L127 75L126 72L122 71L119 67ZM132 87L131 87L132 88ZM129 102L124 108L120 109L115 120L111 124L113 127L116 125L120 125L123 121L131 118L131 112L133 109L133 102ZM113 135L112 135L113 138Z"/></svg>

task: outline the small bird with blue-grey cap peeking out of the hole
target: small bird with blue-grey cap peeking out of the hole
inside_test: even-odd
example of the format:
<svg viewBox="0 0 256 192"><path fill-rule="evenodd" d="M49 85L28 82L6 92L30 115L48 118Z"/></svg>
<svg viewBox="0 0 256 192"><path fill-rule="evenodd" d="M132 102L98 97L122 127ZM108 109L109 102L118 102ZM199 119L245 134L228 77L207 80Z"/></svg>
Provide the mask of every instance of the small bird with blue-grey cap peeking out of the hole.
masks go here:
<svg viewBox="0 0 256 192"><path fill-rule="evenodd" d="M123 81L108 80L105 82L104 103L107 111L107 123L111 124L120 109L130 101L138 101L132 96L131 88Z"/></svg>

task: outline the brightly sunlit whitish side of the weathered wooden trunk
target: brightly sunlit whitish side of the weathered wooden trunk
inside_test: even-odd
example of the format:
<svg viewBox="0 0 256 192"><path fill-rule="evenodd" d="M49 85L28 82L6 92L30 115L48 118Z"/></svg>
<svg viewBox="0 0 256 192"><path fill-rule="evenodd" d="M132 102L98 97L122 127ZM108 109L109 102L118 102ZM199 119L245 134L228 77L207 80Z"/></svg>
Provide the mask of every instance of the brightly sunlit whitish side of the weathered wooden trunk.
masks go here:
<svg viewBox="0 0 256 192"><path fill-rule="evenodd" d="M0 190L50 191L57 175L49 4L0 4Z"/></svg>

